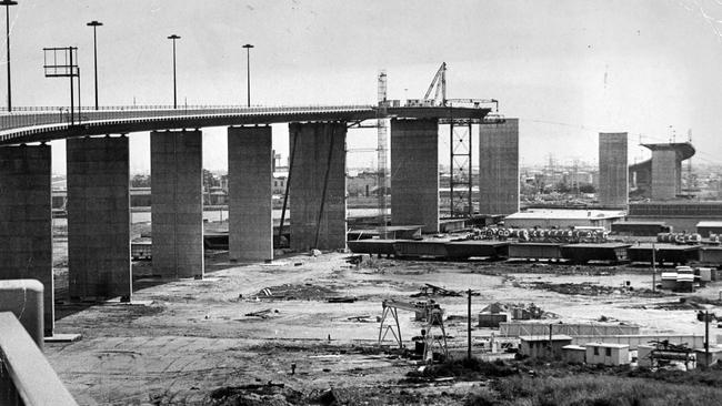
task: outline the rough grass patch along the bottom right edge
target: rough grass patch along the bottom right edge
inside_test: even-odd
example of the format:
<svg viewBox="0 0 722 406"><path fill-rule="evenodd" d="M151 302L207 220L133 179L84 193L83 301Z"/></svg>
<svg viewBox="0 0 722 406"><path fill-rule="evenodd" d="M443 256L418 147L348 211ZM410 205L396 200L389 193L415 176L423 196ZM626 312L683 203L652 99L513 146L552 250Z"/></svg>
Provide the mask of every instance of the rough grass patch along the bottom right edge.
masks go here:
<svg viewBox="0 0 722 406"><path fill-rule="evenodd" d="M492 367L517 373L491 379L488 387L467 397L467 405L706 406L719 404L718 399L722 398L722 368L718 366L690 372L653 372L525 359L503 367L492 363ZM534 373L530 374L531 371Z"/></svg>

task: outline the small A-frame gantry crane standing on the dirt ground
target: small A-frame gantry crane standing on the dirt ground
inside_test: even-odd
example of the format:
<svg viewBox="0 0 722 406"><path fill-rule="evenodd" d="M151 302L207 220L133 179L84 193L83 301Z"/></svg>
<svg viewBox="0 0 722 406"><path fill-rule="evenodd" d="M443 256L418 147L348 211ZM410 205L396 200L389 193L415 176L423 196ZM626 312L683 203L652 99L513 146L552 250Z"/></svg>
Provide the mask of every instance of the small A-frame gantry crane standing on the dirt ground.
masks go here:
<svg viewBox="0 0 722 406"><path fill-rule="evenodd" d="M379 326L379 345L383 343L389 332L393 335L399 349L403 349L403 339L401 338L401 325L399 323L399 309L413 312L417 321L424 321L424 327L421 331L421 341L423 343L422 359L433 361L434 348L439 348L437 354L445 359L449 356L447 348L447 332L443 326L443 311L434 301L409 303L394 300L384 300L381 302L383 313L381 315L381 325ZM391 315L393 323L387 323ZM440 331L441 334L437 334Z"/></svg>

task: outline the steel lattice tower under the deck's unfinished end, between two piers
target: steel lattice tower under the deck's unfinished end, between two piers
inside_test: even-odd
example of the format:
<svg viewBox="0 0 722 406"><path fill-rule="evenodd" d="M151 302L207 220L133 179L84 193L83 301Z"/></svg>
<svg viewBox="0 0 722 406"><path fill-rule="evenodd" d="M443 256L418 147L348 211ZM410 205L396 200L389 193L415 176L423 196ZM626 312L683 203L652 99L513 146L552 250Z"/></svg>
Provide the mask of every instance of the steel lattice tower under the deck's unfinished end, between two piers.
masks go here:
<svg viewBox="0 0 722 406"><path fill-rule="evenodd" d="M471 217L474 211L471 174L471 121L451 120L449 135L451 136L451 179L449 181L451 217Z"/></svg>

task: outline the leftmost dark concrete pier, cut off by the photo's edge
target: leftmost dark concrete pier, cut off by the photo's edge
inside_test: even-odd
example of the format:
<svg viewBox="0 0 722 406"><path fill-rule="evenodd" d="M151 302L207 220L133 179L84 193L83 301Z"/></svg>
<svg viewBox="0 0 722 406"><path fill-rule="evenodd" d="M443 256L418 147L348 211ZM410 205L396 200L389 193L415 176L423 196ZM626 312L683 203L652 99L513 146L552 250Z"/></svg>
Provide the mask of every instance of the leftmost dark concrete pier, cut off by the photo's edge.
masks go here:
<svg viewBox="0 0 722 406"><path fill-rule="evenodd" d="M44 335L54 326L50 145L0 148L0 278L43 285Z"/></svg>

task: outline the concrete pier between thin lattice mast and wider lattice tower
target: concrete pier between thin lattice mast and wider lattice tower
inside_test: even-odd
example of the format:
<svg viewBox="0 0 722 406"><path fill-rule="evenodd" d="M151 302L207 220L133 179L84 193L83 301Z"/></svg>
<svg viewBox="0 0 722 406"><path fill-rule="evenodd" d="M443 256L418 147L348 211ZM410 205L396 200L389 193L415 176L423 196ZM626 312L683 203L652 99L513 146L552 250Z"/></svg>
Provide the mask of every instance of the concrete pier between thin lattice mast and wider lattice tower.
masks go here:
<svg viewBox="0 0 722 406"><path fill-rule="evenodd" d="M439 232L439 121L391 120L391 224Z"/></svg>

